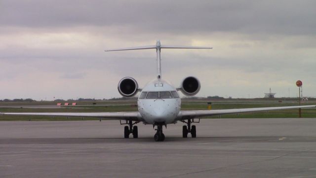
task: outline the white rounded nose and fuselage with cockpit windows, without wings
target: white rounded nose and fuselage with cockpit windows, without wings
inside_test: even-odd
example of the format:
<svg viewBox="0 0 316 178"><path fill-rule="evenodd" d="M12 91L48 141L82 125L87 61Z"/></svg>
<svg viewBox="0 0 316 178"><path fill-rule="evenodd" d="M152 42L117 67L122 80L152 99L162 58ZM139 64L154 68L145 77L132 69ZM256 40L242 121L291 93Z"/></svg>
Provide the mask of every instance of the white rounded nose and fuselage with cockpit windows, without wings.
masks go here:
<svg viewBox="0 0 316 178"><path fill-rule="evenodd" d="M147 84L137 103L138 111L147 124L174 123L181 109L181 99L176 88L162 80Z"/></svg>

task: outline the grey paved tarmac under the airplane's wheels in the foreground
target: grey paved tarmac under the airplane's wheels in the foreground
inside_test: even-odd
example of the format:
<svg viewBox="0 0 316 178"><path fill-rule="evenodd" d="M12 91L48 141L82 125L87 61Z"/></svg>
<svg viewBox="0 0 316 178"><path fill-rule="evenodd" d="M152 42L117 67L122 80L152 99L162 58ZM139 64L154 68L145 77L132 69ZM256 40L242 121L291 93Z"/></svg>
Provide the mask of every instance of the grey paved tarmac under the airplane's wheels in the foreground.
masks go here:
<svg viewBox="0 0 316 178"><path fill-rule="evenodd" d="M0 122L2 178L316 178L316 119L202 119L150 125L123 138L119 121Z"/></svg>

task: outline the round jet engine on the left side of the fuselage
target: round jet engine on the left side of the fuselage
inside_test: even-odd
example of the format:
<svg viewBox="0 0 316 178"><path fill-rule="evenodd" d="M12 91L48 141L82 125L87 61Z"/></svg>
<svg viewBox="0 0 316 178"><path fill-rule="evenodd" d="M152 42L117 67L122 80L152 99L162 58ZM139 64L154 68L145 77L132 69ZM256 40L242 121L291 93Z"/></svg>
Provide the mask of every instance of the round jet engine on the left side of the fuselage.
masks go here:
<svg viewBox="0 0 316 178"><path fill-rule="evenodd" d="M124 97L132 97L138 91L138 84L131 77L124 77L118 82L118 92Z"/></svg>

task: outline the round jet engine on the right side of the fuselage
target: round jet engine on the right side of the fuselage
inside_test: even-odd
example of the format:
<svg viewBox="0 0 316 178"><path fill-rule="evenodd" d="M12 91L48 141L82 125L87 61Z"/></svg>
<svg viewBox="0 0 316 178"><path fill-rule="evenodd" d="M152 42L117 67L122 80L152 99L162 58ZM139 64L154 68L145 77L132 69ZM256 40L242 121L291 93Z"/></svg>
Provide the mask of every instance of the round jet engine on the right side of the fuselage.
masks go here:
<svg viewBox="0 0 316 178"><path fill-rule="evenodd" d="M201 84L195 77L186 77L181 82L181 92L186 96L194 96L201 88Z"/></svg>

